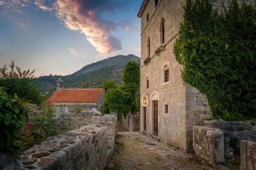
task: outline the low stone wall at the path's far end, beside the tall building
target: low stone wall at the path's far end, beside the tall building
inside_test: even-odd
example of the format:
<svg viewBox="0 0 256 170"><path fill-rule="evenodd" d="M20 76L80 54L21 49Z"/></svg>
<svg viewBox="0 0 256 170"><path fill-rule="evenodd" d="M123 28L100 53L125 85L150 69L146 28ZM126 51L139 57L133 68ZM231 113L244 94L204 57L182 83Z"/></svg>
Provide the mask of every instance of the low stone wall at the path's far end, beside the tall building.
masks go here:
<svg viewBox="0 0 256 170"><path fill-rule="evenodd" d="M129 113L126 118L122 114L122 119L118 127L118 132L135 132L140 131L140 112L137 115Z"/></svg>

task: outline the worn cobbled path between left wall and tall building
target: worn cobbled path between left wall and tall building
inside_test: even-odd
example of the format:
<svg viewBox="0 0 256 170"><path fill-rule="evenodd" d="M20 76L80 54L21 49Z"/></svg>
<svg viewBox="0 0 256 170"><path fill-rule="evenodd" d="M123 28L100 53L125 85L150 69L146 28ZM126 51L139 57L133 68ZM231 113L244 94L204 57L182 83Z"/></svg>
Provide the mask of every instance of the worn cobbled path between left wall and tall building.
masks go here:
<svg viewBox="0 0 256 170"><path fill-rule="evenodd" d="M107 170L215 170L206 161L139 132L118 133Z"/></svg>

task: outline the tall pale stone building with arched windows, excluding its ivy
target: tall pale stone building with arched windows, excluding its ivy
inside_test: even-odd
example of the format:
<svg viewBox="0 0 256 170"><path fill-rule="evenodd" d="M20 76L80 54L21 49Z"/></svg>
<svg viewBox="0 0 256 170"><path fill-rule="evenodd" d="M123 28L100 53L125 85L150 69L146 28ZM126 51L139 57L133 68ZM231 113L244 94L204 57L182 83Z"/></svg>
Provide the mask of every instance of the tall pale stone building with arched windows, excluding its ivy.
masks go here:
<svg viewBox="0 0 256 170"><path fill-rule="evenodd" d="M222 0L210 2L213 9L224 11ZM228 0L223 2L228 9ZM255 0L245 2L255 4ZM193 126L203 125L212 112L206 96L183 83L182 66L173 54L185 5L186 0L143 0L137 15L141 18L140 131L192 152Z"/></svg>

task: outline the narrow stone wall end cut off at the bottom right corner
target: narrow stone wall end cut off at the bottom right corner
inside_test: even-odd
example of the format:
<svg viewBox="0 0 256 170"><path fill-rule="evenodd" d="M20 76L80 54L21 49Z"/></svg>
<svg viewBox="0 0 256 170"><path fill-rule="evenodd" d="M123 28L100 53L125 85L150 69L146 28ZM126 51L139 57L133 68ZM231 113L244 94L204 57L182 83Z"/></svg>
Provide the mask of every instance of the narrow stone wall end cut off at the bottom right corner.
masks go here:
<svg viewBox="0 0 256 170"><path fill-rule="evenodd" d="M240 170L256 170L256 142L241 141Z"/></svg>

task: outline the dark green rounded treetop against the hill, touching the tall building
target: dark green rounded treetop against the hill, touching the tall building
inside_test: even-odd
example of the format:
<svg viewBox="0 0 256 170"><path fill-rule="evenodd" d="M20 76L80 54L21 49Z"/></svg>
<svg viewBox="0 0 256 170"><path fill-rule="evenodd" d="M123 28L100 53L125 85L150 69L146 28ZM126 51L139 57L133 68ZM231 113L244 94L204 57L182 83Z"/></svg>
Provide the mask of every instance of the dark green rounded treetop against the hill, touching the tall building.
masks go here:
<svg viewBox="0 0 256 170"><path fill-rule="evenodd" d="M135 61L129 61L124 70L124 75L122 81L125 84L133 83L139 84L140 83L140 66Z"/></svg>

